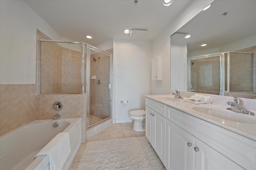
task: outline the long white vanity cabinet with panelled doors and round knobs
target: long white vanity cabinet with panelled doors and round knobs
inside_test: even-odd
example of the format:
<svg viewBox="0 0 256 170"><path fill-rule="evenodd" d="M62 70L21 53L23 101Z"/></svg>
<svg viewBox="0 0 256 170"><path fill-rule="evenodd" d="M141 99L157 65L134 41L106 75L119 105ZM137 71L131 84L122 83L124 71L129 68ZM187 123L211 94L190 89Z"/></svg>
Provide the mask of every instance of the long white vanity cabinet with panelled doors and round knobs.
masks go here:
<svg viewBox="0 0 256 170"><path fill-rule="evenodd" d="M160 159L165 158L162 162L167 170L256 169L254 140L173 107L164 106L146 98L146 137ZM160 122L164 123L160 126ZM159 154L161 147L165 149L160 150L165 156Z"/></svg>

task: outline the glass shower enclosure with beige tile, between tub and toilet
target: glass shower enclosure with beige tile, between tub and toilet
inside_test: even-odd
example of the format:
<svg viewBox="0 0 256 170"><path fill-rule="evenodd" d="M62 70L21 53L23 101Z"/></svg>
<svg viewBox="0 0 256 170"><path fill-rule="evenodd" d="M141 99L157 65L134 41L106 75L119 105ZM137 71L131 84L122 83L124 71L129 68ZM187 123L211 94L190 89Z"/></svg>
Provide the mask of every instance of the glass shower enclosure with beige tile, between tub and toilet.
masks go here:
<svg viewBox="0 0 256 170"><path fill-rule="evenodd" d="M111 118L112 54L80 42L39 40L39 94L87 94L87 128Z"/></svg>

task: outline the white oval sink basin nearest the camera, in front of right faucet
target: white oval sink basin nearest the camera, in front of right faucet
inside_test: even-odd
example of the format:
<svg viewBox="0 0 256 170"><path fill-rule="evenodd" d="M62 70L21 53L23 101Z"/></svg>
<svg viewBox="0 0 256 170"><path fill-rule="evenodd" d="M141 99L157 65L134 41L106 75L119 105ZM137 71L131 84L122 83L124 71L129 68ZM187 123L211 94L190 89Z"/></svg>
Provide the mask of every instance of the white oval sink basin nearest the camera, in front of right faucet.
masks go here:
<svg viewBox="0 0 256 170"><path fill-rule="evenodd" d="M217 117L219 119L224 119L224 120L234 121L239 123L256 124L256 119L254 115L245 115L243 113L237 113L234 111L215 108L215 107L195 106L195 107L192 107L192 109L202 114L206 114L212 117Z"/></svg>

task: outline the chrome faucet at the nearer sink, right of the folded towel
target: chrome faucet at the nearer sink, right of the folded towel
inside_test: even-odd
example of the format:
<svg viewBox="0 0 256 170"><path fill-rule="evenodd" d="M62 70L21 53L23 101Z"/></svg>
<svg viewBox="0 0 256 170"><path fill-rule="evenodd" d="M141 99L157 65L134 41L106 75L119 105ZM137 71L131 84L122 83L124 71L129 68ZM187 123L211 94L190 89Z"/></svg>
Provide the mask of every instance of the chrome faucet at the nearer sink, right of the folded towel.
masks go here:
<svg viewBox="0 0 256 170"><path fill-rule="evenodd" d="M231 107L227 108L228 110L232 110L232 111L236 111L236 112L244 113L244 114L248 114L248 115L254 115L253 112L248 111L246 108L244 108L242 99L234 97L234 96L232 96L232 97L234 98L234 102L227 102L227 104L229 106L231 106Z"/></svg>

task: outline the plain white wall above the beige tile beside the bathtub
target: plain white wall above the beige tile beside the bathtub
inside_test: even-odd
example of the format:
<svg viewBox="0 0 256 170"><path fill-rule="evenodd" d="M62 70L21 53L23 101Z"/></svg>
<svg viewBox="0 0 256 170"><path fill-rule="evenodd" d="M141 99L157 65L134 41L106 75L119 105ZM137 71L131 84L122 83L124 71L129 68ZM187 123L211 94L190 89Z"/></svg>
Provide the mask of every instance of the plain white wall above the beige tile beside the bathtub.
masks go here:
<svg viewBox="0 0 256 170"><path fill-rule="evenodd" d="M36 29L63 40L23 0L0 0L0 84L36 83Z"/></svg>

